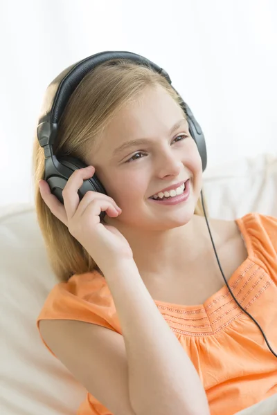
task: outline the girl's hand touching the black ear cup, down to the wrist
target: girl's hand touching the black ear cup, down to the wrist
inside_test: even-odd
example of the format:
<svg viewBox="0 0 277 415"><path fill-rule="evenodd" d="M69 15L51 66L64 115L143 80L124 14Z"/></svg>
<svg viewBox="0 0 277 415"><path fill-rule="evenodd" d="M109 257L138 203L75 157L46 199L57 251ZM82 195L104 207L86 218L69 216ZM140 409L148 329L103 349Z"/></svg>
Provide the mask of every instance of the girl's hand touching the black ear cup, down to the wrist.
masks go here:
<svg viewBox="0 0 277 415"><path fill-rule="evenodd" d="M108 216L115 218L121 213L111 197L89 191L82 200L78 196L78 189L84 180L91 178L95 173L93 166L78 169L71 174L62 196L64 205L51 194L46 181L39 181L39 190L42 199L51 212L69 228L71 235L89 252L99 268L107 268L122 259L132 259L133 252L129 243L114 226L100 223L100 212L105 211Z"/></svg>

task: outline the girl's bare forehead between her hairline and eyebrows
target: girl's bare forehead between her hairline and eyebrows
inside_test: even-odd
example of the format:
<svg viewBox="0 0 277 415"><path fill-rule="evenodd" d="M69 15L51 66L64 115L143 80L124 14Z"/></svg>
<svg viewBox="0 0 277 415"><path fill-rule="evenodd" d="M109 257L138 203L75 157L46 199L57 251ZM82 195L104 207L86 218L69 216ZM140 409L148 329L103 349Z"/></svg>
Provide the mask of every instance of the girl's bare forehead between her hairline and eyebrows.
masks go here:
<svg viewBox="0 0 277 415"><path fill-rule="evenodd" d="M97 152L112 154L126 141L166 136L172 126L185 117L184 111L165 89L160 86L145 89L137 100L120 109L109 122Z"/></svg>

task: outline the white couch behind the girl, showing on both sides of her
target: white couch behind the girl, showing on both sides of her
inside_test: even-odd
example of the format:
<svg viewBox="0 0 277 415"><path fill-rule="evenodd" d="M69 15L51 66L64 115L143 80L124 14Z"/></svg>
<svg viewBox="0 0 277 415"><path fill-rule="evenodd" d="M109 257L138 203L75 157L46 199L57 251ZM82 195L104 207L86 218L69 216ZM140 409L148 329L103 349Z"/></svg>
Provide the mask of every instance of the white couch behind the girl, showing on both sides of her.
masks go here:
<svg viewBox="0 0 277 415"><path fill-rule="evenodd" d="M204 174L208 210L217 218L254 211L277 216L276 189L277 155L238 160ZM35 326L57 281L33 205L0 208L0 255L0 413L73 415L85 397L84 387L51 356ZM277 409L276 400L270 405ZM256 410L259 415L274 414Z"/></svg>

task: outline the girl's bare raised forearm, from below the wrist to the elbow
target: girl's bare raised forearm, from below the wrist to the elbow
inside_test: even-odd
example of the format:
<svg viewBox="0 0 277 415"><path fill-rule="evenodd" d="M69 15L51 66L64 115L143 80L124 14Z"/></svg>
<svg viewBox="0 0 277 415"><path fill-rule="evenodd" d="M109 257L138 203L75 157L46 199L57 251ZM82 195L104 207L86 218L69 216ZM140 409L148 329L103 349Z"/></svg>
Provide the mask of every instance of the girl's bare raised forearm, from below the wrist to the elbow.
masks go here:
<svg viewBox="0 0 277 415"><path fill-rule="evenodd" d="M134 261L107 268L104 275L125 340L134 412L209 414L197 371L159 313Z"/></svg>

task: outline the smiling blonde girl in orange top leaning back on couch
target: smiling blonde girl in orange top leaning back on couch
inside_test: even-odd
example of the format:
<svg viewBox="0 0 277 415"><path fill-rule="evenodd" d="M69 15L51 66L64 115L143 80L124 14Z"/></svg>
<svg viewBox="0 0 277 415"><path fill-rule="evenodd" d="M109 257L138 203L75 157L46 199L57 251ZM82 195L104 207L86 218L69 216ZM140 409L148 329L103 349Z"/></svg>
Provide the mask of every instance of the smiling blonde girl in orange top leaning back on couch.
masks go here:
<svg viewBox="0 0 277 415"><path fill-rule="evenodd" d="M59 279L37 328L88 391L78 414L231 415L275 394L276 357L222 279L200 205L202 160L167 80L124 59L100 64L57 137L57 158L88 167L70 176L64 204L46 181L36 187ZM37 139L34 159L38 183ZM80 200L94 174L108 196ZM209 223L233 294L276 352L277 219Z"/></svg>

